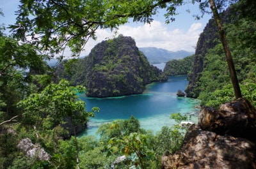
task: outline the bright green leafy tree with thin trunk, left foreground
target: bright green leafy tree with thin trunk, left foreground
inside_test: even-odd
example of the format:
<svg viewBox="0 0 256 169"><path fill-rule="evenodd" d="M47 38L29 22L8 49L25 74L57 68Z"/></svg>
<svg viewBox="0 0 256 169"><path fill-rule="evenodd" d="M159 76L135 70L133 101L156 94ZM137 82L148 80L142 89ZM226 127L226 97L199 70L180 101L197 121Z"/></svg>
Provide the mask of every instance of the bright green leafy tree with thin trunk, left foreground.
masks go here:
<svg viewBox="0 0 256 169"><path fill-rule="evenodd" d="M59 84L48 85L41 93L31 94L27 99L17 103L17 106L24 110L22 122L34 127L39 140L44 140L52 133L59 134L53 137L62 136L63 133L58 133L61 131L60 126L65 125L70 118L71 124L68 127L74 133L77 167L79 167L79 147L76 140L76 126L88 122L93 112L99 112L99 108L92 108L92 112L86 112L84 101L78 100L77 96L77 92L84 91L85 88L82 86L71 87L67 80L61 80ZM51 141L57 142L58 139Z"/></svg>

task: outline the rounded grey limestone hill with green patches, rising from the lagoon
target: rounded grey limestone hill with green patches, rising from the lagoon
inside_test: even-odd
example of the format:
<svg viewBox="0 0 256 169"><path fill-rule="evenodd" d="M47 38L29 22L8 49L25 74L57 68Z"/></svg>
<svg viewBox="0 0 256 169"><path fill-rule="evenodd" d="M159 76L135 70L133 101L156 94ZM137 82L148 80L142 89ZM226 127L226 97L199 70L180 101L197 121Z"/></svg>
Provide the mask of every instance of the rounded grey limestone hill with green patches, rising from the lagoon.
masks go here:
<svg viewBox="0 0 256 169"><path fill-rule="evenodd" d="M161 70L149 64L135 41L122 35L97 44L88 57L69 62L69 74L62 71L61 65L56 72L73 85L83 84L86 96L139 94L145 84L167 80Z"/></svg>

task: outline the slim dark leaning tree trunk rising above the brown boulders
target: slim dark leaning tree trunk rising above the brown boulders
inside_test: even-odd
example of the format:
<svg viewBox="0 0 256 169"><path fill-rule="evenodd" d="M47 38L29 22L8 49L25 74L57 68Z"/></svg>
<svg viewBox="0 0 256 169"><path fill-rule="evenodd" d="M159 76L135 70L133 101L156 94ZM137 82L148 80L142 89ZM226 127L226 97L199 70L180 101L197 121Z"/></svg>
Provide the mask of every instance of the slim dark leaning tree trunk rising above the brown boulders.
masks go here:
<svg viewBox="0 0 256 169"><path fill-rule="evenodd" d="M226 60L228 62L228 70L229 70L229 73L230 73L230 78L231 78L231 82L232 82L232 85L233 85L233 88L234 88L236 99L242 98L242 93L241 93L241 89L239 87L239 82L238 82L238 79L237 79L234 62L233 62L233 59L232 59L230 48L228 47L228 42L227 42L227 39L226 39L226 36L225 36L225 31L223 29L223 24L222 24L220 15L219 15L218 10L215 6L214 0L209 0L209 3L211 5L211 10L212 10L212 13L213 13L213 17L216 20L216 23L217 23L217 26L218 26L218 29L219 29L220 40L221 40L221 43L222 43L222 46L223 46L223 49L224 49L224 52L225 52Z"/></svg>

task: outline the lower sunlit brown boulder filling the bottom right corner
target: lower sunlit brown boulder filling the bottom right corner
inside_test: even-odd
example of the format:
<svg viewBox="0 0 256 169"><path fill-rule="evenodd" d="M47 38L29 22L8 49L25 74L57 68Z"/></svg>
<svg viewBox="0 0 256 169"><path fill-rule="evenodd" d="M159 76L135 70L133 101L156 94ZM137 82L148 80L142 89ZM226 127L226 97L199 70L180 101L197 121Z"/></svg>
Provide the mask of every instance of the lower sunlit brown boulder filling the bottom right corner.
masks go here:
<svg viewBox="0 0 256 169"><path fill-rule="evenodd" d="M255 151L256 144L249 140L217 135L193 124L182 148L162 157L162 168L256 168Z"/></svg>

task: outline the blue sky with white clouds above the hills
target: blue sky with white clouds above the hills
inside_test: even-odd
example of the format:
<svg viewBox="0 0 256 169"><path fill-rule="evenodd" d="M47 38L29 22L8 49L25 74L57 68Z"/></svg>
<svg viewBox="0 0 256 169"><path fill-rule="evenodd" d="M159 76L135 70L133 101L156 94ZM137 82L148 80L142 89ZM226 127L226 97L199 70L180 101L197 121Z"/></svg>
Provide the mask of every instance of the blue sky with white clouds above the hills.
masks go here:
<svg viewBox="0 0 256 169"><path fill-rule="evenodd" d="M0 0L0 8L3 10L4 17L0 16L0 24L8 27L15 23L15 11L17 11L19 0ZM187 12L190 11L190 13ZM170 51L186 50L195 52L195 47L200 33L204 30L211 15L205 15L200 20L195 20L193 14L199 14L198 6L185 4L177 9L179 15L175 21L165 24L164 11L160 11L154 16L154 21L149 24L129 22L120 26L118 34L131 36L136 41L137 47L156 47ZM7 30L6 33L9 33ZM81 55L88 55L90 50L102 40L115 37L108 29L97 31L97 40L90 40Z"/></svg>

